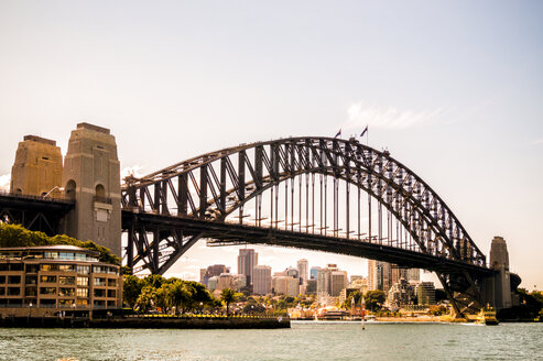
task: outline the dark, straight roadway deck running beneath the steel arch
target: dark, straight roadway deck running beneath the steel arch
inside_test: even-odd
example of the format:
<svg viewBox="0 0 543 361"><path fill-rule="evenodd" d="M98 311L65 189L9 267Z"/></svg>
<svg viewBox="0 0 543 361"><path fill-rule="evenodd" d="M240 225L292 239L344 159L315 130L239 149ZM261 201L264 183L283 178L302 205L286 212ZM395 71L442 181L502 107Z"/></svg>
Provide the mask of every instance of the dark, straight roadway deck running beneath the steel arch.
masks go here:
<svg viewBox="0 0 543 361"><path fill-rule="evenodd" d="M246 243L279 245L373 259L394 263L400 266L424 269L441 273L467 271L482 276L493 274L493 271L490 269L467 262L448 260L417 251L356 239L122 210L123 229L128 229L131 226L138 228L138 225L144 225L146 231L173 228L182 229L185 236L204 232L203 238L210 239L210 243L216 243L217 245Z"/></svg>

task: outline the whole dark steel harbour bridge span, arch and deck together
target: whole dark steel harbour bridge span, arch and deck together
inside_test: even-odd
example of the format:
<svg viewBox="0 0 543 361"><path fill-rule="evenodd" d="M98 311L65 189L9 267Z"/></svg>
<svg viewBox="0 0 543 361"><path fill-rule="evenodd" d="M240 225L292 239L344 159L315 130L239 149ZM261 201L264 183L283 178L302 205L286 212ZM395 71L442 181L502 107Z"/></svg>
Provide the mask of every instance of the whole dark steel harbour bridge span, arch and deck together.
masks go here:
<svg viewBox="0 0 543 361"><path fill-rule="evenodd" d="M2 221L21 222L13 217L18 196L0 197ZM31 198L24 201L19 208L33 209ZM134 272L163 274L205 240L433 271L457 315L478 310L492 298L489 288L496 292L488 284L497 272L443 199L388 151L356 139L289 138L219 150L124 178L119 203L123 258Z"/></svg>

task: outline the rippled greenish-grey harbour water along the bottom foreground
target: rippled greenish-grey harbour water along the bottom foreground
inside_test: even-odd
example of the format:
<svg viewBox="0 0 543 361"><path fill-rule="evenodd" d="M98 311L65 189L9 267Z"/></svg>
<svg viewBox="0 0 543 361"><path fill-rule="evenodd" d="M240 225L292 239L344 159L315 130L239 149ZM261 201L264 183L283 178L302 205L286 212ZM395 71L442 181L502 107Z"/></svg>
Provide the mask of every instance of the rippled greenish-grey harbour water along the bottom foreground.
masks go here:
<svg viewBox="0 0 543 361"><path fill-rule="evenodd" d="M291 329L0 328L0 360L542 360L543 324L293 321Z"/></svg>

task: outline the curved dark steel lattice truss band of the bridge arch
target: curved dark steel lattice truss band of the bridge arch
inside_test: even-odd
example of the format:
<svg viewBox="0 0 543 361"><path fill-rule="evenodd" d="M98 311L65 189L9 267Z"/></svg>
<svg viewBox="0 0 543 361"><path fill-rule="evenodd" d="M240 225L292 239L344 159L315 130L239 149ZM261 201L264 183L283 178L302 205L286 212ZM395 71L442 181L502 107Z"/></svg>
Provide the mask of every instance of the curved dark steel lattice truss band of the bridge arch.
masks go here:
<svg viewBox="0 0 543 361"><path fill-rule="evenodd" d="M248 152L254 154L253 162ZM128 211L216 221L239 210L242 222L246 203L304 174L332 176L371 195L413 237L420 253L485 267L482 252L426 183L388 152L352 140L294 138L208 153L142 178L126 179L122 204ZM153 247L145 248L140 259ZM172 256L176 251L174 247Z"/></svg>

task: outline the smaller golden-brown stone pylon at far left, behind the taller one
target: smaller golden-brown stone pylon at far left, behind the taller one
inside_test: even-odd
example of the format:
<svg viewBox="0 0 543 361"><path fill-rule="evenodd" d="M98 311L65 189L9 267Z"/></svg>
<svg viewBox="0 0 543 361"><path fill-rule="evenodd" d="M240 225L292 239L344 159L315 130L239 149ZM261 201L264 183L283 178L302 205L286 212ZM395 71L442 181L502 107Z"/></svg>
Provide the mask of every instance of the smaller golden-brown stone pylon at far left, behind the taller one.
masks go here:
<svg viewBox="0 0 543 361"><path fill-rule="evenodd" d="M59 197L62 174L62 153L56 142L25 135L11 168L10 193Z"/></svg>

